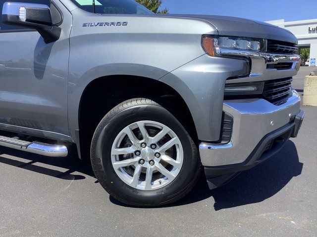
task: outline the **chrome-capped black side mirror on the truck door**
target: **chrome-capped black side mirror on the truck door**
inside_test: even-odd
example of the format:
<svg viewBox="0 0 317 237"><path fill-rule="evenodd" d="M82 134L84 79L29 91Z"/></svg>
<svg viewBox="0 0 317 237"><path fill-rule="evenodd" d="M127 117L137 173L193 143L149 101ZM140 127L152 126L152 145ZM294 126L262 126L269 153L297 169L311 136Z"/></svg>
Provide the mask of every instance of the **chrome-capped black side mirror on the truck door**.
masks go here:
<svg viewBox="0 0 317 237"><path fill-rule="evenodd" d="M5 2L2 23L37 30L46 43L59 39L61 29L53 26L50 7L44 4Z"/></svg>

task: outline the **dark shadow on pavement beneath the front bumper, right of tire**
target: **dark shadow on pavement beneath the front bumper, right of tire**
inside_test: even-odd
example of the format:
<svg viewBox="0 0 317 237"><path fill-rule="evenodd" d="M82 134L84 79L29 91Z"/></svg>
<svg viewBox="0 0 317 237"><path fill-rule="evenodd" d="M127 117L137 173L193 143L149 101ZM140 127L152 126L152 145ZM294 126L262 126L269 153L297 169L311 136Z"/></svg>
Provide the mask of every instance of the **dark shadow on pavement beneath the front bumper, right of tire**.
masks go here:
<svg viewBox="0 0 317 237"><path fill-rule="evenodd" d="M303 163L295 144L287 141L275 156L253 169L241 172L231 182L215 190L209 190L205 177L182 200L173 205L184 205L208 197L214 198L214 209L221 210L261 202L274 196L293 178L302 173Z"/></svg>

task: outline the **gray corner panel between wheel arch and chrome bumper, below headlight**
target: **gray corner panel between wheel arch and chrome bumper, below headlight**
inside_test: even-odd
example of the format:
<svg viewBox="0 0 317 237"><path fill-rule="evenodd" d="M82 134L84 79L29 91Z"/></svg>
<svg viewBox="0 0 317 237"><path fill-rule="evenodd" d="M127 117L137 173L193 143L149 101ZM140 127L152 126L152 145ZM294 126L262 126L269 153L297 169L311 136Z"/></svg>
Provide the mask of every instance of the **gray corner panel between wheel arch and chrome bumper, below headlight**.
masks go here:
<svg viewBox="0 0 317 237"><path fill-rule="evenodd" d="M244 60L203 55L159 79L182 96L200 140L219 140L225 81L245 72L246 64Z"/></svg>

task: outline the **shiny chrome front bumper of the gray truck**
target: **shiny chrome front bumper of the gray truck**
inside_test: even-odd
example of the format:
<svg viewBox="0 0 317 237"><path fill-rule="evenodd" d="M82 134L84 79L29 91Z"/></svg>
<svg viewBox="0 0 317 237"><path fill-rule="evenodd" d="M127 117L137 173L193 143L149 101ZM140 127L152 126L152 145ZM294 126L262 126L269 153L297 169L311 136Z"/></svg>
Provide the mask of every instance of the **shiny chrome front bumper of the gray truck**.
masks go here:
<svg viewBox="0 0 317 237"><path fill-rule="evenodd" d="M224 101L223 111L233 117L231 142L199 146L204 166L244 165L263 138L295 120L300 113L300 96L293 90L286 103L275 106L264 99Z"/></svg>

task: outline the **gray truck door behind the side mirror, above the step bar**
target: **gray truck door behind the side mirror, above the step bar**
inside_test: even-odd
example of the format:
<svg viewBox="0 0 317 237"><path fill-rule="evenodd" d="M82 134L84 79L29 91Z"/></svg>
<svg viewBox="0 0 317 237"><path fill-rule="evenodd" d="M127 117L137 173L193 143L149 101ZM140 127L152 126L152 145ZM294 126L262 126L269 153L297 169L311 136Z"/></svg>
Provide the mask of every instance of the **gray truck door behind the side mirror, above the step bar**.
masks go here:
<svg viewBox="0 0 317 237"><path fill-rule="evenodd" d="M51 5L51 0L6 0ZM59 40L46 44L30 29L1 22L0 1L0 128L34 128L68 135L67 80L70 12L52 1L60 16ZM56 13L56 12L55 12ZM55 22L57 24L57 22Z"/></svg>

